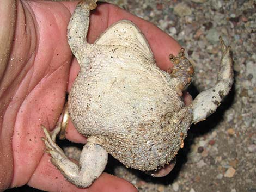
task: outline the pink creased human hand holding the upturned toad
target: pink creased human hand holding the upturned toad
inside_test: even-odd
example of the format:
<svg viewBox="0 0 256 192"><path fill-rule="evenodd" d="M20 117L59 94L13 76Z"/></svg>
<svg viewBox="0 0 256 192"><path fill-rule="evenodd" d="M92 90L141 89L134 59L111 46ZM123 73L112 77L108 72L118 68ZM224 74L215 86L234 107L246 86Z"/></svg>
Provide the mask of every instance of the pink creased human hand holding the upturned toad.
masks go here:
<svg viewBox="0 0 256 192"><path fill-rule="evenodd" d="M79 189L60 174L44 153L43 124L53 129L65 94L79 66L66 38L75 2L10 0L0 2L0 191L28 184L45 191L137 191L124 179L103 173L89 188ZM172 66L168 55L180 45L153 24L107 3L92 11L88 41L121 19L134 22L148 39L157 65ZM3 24L3 25L2 25ZM5 30L6 29L6 30ZM191 96L184 94L185 103ZM66 138L86 143L69 122Z"/></svg>

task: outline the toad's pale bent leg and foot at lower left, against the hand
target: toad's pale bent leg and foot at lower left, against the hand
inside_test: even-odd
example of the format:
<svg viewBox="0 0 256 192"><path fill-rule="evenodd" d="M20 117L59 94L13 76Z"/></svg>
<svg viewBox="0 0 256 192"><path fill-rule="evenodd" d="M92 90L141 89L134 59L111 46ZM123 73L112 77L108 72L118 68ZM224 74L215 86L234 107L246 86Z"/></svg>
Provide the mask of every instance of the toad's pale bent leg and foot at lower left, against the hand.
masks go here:
<svg viewBox="0 0 256 192"><path fill-rule="evenodd" d="M42 138L46 145L46 152L51 154L52 164L62 172L68 181L77 187L84 188L91 185L102 174L107 164L108 153L100 145L90 142L84 145L79 165L77 165L69 160L54 142L55 136L51 137L47 129L44 126L41 127L46 136L46 138Z"/></svg>

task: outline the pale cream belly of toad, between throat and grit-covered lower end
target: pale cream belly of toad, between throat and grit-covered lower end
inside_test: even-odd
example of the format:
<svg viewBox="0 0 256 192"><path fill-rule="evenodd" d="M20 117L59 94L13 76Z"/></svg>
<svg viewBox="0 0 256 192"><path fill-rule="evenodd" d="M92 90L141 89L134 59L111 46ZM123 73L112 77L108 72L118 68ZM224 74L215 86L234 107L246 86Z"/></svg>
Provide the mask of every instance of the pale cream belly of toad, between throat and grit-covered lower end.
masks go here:
<svg viewBox="0 0 256 192"><path fill-rule="evenodd" d="M131 126L159 122L184 106L153 61L127 58L117 49L115 53L108 62L105 55L93 58L71 89L69 112L84 135L125 133Z"/></svg>

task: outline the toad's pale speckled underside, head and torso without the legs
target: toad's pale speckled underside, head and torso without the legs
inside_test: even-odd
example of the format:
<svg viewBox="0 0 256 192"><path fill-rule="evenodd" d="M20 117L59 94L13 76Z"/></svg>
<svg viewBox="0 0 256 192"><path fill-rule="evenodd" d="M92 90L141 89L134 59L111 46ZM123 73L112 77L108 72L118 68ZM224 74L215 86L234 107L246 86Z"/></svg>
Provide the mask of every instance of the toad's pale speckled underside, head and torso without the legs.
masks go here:
<svg viewBox="0 0 256 192"><path fill-rule="evenodd" d="M192 119L177 87L186 76L160 70L130 21L115 23L93 45L78 45L80 74L69 94L76 129L131 168L149 171L172 160Z"/></svg>

